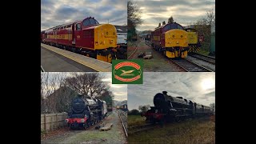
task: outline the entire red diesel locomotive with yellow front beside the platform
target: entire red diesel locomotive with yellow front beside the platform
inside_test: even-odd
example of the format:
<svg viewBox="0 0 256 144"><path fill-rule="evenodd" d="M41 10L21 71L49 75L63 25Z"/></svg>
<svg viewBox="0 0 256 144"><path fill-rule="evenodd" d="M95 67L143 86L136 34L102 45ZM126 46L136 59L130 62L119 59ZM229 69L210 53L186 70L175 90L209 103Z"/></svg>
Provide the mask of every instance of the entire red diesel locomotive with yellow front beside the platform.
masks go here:
<svg viewBox="0 0 256 144"><path fill-rule="evenodd" d="M99 24L94 18L88 17L81 21L55 26L46 30L43 43L57 46L97 58L104 62L112 59L125 58L122 50L117 46L117 30L111 24Z"/></svg>

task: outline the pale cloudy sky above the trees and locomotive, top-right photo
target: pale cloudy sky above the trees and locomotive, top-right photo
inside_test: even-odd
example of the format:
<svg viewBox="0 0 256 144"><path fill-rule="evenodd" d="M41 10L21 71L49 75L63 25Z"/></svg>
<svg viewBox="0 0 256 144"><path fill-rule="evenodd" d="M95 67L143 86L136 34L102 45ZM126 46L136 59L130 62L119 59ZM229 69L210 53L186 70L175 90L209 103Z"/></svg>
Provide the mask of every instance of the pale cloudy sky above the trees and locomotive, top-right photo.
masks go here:
<svg viewBox="0 0 256 144"><path fill-rule="evenodd" d="M215 10L215 0L133 0L142 10L141 26L138 30L154 30L158 23L168 22L173 16L174 22L182 26L193 24L206 16L207 10Z"/></svg>

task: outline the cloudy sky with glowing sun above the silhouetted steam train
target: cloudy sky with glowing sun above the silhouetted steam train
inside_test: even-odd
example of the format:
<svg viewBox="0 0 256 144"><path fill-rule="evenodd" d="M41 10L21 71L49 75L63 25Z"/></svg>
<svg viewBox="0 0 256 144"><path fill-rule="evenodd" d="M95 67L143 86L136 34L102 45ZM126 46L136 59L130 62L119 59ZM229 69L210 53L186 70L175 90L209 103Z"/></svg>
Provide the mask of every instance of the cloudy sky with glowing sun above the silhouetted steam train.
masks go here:
<svg viewBox="0 0 256 144"><path fill-rule="evenodd" d="M128 109L154 106L154 95L162 91L209 106L215 102L215 73L144 72L142 85L128 85Z"/></svg>

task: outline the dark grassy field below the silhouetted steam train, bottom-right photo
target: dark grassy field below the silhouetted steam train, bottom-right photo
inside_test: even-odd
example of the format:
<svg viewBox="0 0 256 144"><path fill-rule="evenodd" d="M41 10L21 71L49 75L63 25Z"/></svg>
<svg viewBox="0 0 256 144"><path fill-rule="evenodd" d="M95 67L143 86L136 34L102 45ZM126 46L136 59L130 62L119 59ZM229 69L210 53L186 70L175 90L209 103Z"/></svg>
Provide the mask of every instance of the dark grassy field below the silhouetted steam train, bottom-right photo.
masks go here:
<svg viewBox="0 0 256 144"><path fill-rule="evenodd" d="M141 116L128 115L128 125L142 122ZM130 122L131 121L131 122ZM173 143L173 144L214 144L214 119L193 119L179 123L168 123L163 128L130 134L128 143Z"/></svg>

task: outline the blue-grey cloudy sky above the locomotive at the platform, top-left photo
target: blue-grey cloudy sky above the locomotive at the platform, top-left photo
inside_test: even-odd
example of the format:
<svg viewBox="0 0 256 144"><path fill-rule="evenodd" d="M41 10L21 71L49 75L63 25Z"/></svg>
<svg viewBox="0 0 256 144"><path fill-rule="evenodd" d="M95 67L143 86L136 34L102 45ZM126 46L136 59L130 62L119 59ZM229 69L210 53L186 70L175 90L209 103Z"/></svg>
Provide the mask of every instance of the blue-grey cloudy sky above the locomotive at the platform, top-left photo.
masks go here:
<svg viewBox="0 0 256 144"><path fill-rule="evenodd" d="M90 16L99 23L127 24L127 0L41 1L41 30Z"/></svg>

